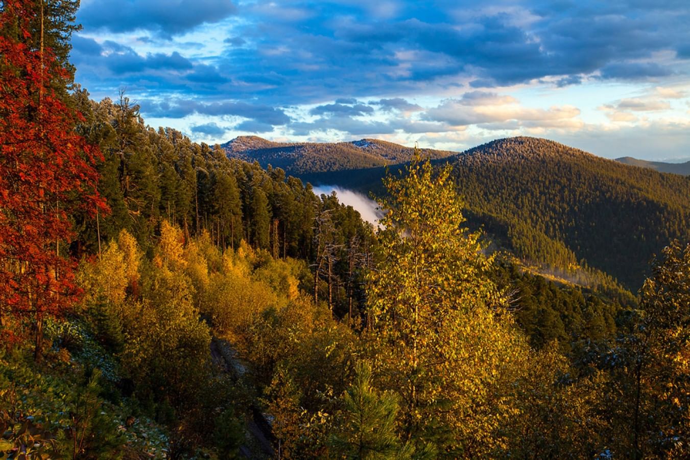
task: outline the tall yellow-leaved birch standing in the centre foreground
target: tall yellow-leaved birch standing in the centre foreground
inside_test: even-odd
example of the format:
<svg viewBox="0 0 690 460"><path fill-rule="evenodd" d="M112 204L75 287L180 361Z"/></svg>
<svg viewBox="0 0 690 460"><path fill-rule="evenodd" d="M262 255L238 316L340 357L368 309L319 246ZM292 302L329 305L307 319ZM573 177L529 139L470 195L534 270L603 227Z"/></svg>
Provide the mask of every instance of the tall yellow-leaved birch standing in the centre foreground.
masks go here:
<svg viewBox="0 0 690 460"><path fill-rule="evenodd" d="M407 439L451 457L484 457L501 443L498 421L526 343L509 315L497 318L491 258L463 225L449 167L435 173L415 156L404 172L384 181L386 229L368 276L380 378L400 396Z"/></svg>

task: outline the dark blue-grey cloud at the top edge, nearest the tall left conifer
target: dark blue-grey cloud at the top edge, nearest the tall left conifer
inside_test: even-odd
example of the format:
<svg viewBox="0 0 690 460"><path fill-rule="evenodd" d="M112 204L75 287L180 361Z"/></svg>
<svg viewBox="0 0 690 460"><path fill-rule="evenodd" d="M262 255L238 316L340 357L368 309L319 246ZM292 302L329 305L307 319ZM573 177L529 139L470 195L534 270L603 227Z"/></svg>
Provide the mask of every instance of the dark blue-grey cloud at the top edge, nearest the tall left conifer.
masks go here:
<svg viewBox="0 0 690 460"><path fill-rule="evenodd" d="M91 0L83 2L77 20L85 28L111 32L144 29L177 35L202 23L221 21L235 10L228 0Z"/></svg>

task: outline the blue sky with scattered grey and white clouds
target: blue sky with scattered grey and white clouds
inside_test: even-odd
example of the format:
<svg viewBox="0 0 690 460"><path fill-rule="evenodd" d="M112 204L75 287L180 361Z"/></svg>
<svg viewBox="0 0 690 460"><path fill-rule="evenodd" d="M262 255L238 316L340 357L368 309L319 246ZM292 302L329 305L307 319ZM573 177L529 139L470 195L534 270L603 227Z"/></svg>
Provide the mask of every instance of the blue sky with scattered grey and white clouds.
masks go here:
<svg viewBox="0 0 690 460"><path fill-rule="evenodd" d="M197 142L690 160L688 0L82 0L76 80Z"/></svg>

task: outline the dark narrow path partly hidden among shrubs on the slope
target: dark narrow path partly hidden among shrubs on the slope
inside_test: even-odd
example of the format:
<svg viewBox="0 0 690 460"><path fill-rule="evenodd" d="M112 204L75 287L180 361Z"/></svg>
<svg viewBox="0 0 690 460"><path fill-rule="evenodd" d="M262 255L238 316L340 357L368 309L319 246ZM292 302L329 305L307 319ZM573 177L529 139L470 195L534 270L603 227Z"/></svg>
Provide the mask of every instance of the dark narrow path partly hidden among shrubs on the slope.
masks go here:
<svg viewBox="0 0 690 460"><path fill-rule="evenodd" d="M211 361L222 370L233 376L233 379L241 381L246 374L246 367L237 358L237 352L228 341L213 337L210 344ZM251 419L247 421L246 443L239 448L240 454L247 459L272 459L275 458L273 445L270 440L273 434L266 417L259 410L257 403L250 406Z"/></svg>

